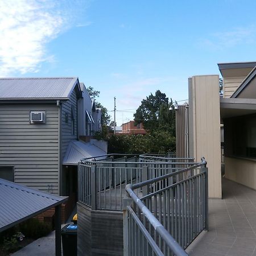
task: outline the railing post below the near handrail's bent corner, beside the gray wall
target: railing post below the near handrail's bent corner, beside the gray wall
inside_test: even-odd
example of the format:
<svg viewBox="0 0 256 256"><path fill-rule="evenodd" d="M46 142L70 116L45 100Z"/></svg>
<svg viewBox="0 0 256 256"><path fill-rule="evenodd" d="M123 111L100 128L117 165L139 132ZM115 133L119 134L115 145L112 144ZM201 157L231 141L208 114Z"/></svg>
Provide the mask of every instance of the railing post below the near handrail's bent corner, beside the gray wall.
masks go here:
<svg viewBox="0 0 256 256"><path fill-rule="evenodd" d="M123 256L129 256L129 226L128 226L128 212L127 206L130 206L133 199L123 198Z"/></svg>

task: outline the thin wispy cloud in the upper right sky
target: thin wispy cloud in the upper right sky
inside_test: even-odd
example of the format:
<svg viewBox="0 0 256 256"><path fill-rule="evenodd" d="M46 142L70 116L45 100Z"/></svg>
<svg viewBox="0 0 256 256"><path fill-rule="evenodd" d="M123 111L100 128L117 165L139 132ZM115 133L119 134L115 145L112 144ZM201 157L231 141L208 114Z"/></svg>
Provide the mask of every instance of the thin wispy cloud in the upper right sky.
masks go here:
<svg viewBox="0 0 256 256"><path fill-rule="evenodd" d="M237 27L230 31L212 33L206 39L200 40L200 46L220 50L237 46L238 44L249 44L255 41L255 27Z"/></svg>

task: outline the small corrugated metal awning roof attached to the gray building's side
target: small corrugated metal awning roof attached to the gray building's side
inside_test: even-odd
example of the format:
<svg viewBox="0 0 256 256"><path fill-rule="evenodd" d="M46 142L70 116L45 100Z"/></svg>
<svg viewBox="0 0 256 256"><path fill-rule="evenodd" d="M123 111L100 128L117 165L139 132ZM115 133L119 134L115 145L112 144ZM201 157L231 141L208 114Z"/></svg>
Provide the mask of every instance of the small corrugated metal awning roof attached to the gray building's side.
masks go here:
<svg viewBox="0 0 256 256"><path fill-rule="evenodd" d="M106 155L106 152L89 142L71 141L69 142L67 152L64 156L63 164L77 165L83 158L91 158L100 155ZM105 156L97 159L103 158L105 158Z"/></svg>

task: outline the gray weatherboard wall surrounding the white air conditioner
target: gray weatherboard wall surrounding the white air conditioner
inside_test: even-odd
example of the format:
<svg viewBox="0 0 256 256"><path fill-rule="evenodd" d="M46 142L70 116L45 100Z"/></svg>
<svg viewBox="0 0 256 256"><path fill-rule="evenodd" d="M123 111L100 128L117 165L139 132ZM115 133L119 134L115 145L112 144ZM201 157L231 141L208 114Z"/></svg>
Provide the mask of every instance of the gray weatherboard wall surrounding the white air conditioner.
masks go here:
<svg viewBox="0 0 256 256"><path fill-rule="evenodd" d="M30 110L46 111L46 123L30 124ZM14 166L14 181L58 193L58 107L0 105L0 166Z"/></svg>

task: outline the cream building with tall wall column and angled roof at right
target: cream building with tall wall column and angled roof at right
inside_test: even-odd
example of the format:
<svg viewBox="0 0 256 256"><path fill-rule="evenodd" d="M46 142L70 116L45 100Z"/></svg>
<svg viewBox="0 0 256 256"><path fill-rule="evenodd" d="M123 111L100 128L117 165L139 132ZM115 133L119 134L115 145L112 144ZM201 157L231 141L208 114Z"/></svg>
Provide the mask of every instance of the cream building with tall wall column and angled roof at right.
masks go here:
<svg viewBox="0 0 256 256"><path fill-rule="evenodd" d="M205 156L211 198L222 197L221 162L226 179L256 189L256 62L218 68L223 96L218 75L192 76L189 105L176 110L176 151L197 161Z"/></svg>

